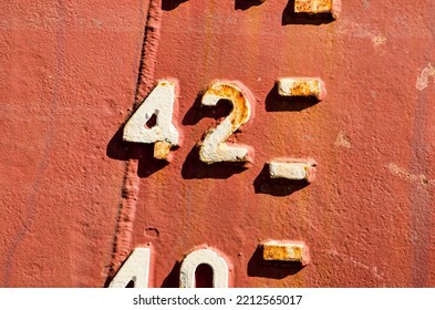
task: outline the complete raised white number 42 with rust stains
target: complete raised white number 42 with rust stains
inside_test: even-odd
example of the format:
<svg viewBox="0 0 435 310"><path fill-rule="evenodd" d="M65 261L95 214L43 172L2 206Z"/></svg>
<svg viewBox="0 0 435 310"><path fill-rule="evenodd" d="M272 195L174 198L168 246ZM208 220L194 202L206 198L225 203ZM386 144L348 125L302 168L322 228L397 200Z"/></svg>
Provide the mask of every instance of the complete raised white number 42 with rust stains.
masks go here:
<svg viewBox="0 0 435 310"><path fill-rule="evenodd" d="M172 146L178 145L179 134L172 123L175 104L174 81L158 81L157 85L144 100L124 127L124 141L154 143L154 157L168 159ZM226 144L230 135L245 124L251 115L247 95L237 82L215 82L203 95L203 105L216 106L220 100L232 104L231 113L216 127L210 128L199 147L199 157L204 163L250 162L249 147ZM152 127L146 124L156 117Z"/></svg>

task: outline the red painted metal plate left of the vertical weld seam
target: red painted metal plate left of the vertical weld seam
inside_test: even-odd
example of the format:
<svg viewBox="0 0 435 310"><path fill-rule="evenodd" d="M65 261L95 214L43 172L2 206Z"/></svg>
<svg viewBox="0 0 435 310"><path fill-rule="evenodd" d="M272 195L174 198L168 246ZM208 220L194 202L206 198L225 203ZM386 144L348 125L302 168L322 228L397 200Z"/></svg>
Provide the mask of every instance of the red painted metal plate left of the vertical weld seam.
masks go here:
<svg viewBox="0 0 435 310"><path fill-rule="evenodd" d="M102 287L146 1L1 6L2 287Z"/></svg>

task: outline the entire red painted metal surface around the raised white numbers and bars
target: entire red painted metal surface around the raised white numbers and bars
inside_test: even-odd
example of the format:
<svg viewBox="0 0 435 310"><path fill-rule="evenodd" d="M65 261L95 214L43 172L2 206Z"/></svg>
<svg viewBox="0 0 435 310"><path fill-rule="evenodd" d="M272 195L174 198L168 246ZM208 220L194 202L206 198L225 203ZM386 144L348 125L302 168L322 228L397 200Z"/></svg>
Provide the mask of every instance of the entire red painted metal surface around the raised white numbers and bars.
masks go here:
<svg viewBox="0 0 435 310"><path fill-rule="evenodd" d="M335 21L278 0L152 2L2 6L1 286L102 287L148 242L154 287L177 286L204 244L236 287L435 286L433 1L343 0ZM292 76L322 79L327 96L278 97ZM167 165L122 141L165 78L183 135ZM256 97L231 138L255 151L247 169L197 159L229 111L199 106L216 79ZM282 157L314 158L313 183L267 179ZM303 241L310 265L265 264L270 239Z"/></svg>

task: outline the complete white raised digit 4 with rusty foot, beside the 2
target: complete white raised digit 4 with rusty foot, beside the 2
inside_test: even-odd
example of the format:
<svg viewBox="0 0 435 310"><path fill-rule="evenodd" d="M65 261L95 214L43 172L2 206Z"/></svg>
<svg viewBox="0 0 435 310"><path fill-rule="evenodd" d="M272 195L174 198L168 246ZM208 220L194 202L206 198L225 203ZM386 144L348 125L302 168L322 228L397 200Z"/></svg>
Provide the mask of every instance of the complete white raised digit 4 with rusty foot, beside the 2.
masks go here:
<svg viewBox="0 0 435 310"><path fill-rule="evenodd" d="M173 145L178 145L178 132L172 123L175 103L173 81L159 81L124 127L124 141L155 143L154 157L167 159ZM147 127L146 123L155 115L156 124Z"/></svg>

